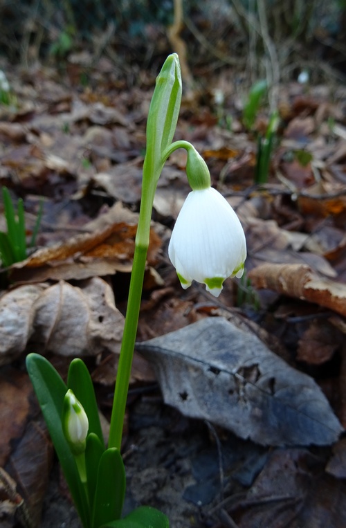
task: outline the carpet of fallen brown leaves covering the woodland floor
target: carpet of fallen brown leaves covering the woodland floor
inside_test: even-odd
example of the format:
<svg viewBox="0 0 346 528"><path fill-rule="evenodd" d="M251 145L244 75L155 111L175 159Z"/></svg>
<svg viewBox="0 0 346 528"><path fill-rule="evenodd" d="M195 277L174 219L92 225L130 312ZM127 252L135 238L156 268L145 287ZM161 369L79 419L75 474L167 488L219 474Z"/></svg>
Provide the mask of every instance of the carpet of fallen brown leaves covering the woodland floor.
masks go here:
<svg viewBox="0 0 346 528"><path fill-rule="evenodd" d="M91 80L83 90L43 68L30 82L12 68L19 107L1 109L1 183L24 198L28 236L44 197L37 248L12 266L10 287L0 293L1 466L36 526L52 452L22 372L26 352L49 354L62 372L65 355L84 357L108 417L116 376L151 91L122 90L110 72L102 83L91 72L100 85ZM218 125L212 102L196 100L183 104L176 136L194 143L212 185L237 209L249 283L226 282L219 300L197 286L179 289L166 255L188 194L185 158L177 152L154 204L138 328L144 359L134 361L125 426L128 507L163 506L175 528L190 519L201 527L341 528L346 98L334 91L338 102L331 103L326 90L281 87L287 126L259 188L255 138L240 122L233 95L225 108L233 115L230 129ZM260 116L255 131L264 121ZM254 295L260 311L248 304ZM230 319L221 319L222 329L220 315ZM238 316L246 329L236 325ZM43 527L51 526L57 497L66 495L59 481L50 482L55 491ZM0 491L1 522L12 528L17 507L6 501ZM65 504L70 512L68 498ZM52 526L57 519L55 511Z"/></svg>

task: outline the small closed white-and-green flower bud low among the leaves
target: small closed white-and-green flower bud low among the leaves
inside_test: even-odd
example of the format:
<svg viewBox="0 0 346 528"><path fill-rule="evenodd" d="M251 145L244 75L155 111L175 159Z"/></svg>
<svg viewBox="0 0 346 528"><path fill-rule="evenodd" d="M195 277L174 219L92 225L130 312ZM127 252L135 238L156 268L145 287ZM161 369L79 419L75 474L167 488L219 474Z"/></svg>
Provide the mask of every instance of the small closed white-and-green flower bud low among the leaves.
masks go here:
<svg viewBox="0 0 346 528"><path fill-rule="evenodd" d="M69 389L65 394L62 407L62 430L73 455L84 453L88 429L89 421L86 412L73 391Z"/></svg>

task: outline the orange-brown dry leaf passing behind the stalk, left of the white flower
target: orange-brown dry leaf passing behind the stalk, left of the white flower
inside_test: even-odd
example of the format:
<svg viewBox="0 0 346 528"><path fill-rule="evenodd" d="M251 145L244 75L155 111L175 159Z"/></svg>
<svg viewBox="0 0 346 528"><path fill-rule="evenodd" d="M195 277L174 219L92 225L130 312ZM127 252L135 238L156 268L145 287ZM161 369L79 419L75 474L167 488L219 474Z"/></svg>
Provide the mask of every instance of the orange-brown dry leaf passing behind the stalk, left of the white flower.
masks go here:
<svg viewBox="0 0 346 528"><path fill-rule="evenodd" d="M107 213L84 226L88 233L39 249L28 259L13 264L11 279L21 283L44 282L48 278L83 280L111 275L116 271L129 273L134 256L137 219L138 215L118 202ZM152 229L148 264L156 263L160 247L161 237Z"/></svg>

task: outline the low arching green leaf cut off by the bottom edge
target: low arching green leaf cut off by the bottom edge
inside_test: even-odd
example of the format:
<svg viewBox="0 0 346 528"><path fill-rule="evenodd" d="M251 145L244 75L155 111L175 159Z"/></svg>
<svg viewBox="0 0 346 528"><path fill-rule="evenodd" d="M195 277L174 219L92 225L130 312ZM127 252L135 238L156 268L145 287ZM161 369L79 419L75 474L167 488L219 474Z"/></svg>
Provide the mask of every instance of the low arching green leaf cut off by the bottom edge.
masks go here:
<svg viewBox="0 0 346 528"><path fill-rule="evenodd" d="M141 506L131 511L128 516L112 520L100 528L169 528L170 522L164 513L149 507Z"/></svg>

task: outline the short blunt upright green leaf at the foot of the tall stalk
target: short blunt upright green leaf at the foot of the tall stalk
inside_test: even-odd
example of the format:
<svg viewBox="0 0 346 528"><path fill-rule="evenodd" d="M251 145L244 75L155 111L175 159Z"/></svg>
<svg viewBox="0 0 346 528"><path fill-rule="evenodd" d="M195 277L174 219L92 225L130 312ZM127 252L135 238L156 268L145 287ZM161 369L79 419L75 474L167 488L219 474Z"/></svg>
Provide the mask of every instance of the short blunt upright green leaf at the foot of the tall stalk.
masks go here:
<svg viewBox="0 0 346 528"><path fill-rule="evenodd" d="M126 477L122 457L117 448L109 448L102 454L98 466L98 481L93 502L93 528L120 518L125 488Z"/></svg>

